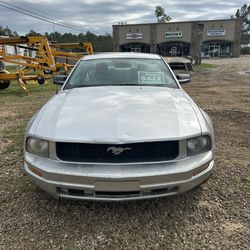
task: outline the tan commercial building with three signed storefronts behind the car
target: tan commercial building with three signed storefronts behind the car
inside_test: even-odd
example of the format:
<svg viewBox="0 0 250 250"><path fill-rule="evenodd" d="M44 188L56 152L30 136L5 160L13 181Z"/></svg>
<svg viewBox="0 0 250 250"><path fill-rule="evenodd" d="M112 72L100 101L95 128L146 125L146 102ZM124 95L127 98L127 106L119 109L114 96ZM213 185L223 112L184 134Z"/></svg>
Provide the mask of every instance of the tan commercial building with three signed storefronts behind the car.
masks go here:
<svg viewBox="0 0 250 250"><path fill-rule="evenodd" d="M239 57L237 19L113 25L113 50L163 56Z"/></svg>

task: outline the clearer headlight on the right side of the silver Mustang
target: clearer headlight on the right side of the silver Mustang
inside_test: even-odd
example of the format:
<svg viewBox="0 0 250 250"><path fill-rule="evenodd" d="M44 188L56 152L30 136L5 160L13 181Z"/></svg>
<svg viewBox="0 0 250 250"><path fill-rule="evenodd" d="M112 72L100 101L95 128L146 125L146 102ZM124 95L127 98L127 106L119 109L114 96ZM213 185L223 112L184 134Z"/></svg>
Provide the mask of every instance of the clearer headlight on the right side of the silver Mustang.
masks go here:
<svg viewBox="0 0 250 250"><path fill-rule="evenodd" d="M208 135L187 140L187 155L196 155L211 150L211 138Z"/></svg>

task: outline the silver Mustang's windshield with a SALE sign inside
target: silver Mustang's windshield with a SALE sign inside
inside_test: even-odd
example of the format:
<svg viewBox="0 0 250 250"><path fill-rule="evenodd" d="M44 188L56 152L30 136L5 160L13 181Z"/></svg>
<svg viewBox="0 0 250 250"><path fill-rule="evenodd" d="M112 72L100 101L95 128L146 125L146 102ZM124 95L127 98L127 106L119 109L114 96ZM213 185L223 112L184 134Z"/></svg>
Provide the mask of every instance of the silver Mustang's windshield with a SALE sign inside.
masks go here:
<svg viewBox="0 0 250 250"><path fill-rule="evenodd" d="M110 85L178 88L162 59L105 58L80 61L64 89Z"/></svg>

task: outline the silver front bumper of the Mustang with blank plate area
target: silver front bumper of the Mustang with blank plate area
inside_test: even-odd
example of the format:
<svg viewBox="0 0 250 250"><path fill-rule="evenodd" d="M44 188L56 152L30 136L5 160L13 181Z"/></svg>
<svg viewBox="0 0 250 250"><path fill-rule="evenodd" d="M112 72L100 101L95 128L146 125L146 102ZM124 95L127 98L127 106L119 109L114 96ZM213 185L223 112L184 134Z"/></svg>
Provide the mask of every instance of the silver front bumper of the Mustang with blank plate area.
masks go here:
<svg viewBox="0 0 250 250"><path fill-rule="evenodd" d="M55 198L122 201L186 192L204 182L213 165L212 151L144 164L68 163L25 153L24 168Z"/></svg>

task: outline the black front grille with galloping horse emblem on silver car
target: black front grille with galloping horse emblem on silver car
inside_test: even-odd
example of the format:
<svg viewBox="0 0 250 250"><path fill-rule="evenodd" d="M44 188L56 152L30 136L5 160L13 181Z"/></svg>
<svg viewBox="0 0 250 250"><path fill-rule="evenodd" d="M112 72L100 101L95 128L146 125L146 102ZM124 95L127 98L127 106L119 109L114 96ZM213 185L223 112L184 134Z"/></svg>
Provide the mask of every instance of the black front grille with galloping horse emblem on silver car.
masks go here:
<svg viewBox="0 0 250 250"><path fill-rule="evenodd" d="M56 143L57 157L72 162L155 162L175 159L178 141L141 142L129 144Z"/></svg>

